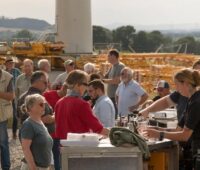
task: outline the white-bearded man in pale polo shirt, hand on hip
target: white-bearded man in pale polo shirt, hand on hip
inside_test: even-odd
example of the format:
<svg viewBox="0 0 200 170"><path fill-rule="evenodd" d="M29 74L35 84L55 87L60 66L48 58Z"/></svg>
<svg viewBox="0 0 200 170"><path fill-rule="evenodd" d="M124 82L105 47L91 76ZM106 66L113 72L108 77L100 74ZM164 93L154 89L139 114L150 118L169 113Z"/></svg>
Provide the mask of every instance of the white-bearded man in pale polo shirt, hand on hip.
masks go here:
<svg viewBox="0 0 200 170"><path fill-rule="evenodd" d="M116 90L118 115L127 116L130 111L143 104L148 95L138 82L133 80L133 70L129 67L122 69L120 79L121 83Z"/></svg>

